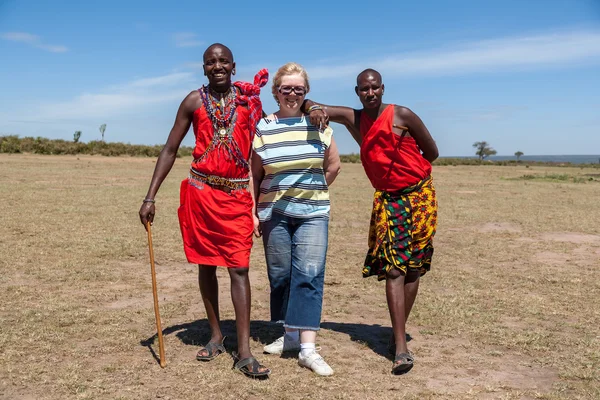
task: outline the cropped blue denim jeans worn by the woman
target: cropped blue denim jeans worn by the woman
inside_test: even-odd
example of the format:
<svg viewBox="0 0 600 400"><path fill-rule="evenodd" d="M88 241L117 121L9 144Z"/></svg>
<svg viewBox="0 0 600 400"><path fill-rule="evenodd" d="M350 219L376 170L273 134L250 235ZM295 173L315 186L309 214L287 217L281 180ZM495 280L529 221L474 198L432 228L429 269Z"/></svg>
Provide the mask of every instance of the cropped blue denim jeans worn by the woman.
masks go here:
<svg viewBox="0 0 600 400"><path fill-rule="evenodd" d="M320 329L328 229L328 214L293 218L273 213L262 223L271 321L286 328Z"/></svg>

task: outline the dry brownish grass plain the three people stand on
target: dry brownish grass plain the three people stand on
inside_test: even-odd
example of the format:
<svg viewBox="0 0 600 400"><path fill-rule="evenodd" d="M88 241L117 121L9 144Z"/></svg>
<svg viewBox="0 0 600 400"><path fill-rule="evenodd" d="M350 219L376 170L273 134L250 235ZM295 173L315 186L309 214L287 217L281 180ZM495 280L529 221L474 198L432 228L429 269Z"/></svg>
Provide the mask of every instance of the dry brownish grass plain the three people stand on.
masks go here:
<svg viewBox="0 0 600 400"><path fill-rule="evenodd" d="M209 338L176 219L178 160L157 196L154 245L167 367L158 352L146 233L137 211L144 158L0 155L2 399L600 398L598 170L435 167L440 203L432 271L408 324L415 368L392 376L384 284L363 279L372 189L345 164L331 189L319 378L276 338L262 245L251 259L251 346L267 381L199 363ZM534 175L533 178L529 175ZM567 178L565 178L565 176ZM590 178L592 180L590 180ZM221 315L235 325L226 271Z"/></svg>

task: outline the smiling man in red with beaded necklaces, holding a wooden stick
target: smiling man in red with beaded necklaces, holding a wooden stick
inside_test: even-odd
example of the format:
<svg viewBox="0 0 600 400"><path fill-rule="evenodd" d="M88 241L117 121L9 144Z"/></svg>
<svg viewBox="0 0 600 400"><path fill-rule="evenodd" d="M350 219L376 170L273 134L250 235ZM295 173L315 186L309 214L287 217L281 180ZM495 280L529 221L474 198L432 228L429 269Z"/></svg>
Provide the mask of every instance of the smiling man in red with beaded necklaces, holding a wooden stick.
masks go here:
<svg viewBox="0 0 600 400"><path fill-rule="evenodd" d="M144 226L154 220L154 197L193 123L194 161L181 185L178 214L188 262L198 264L200 293L211 331L209 342L196 358L210 361L225 353L216 269L227 267L238 339L235 368L250 377L266 377L271 371L250 352L248 267L252 232L258 221L253 223L253 191L248 186L252 138L262 110L258 95L268 75L266 70L260 71L254 85L232 83L233 54L218 43L206 49L203 60L209 85L192 91L181 102L140 208L140 220Z"/></svg>

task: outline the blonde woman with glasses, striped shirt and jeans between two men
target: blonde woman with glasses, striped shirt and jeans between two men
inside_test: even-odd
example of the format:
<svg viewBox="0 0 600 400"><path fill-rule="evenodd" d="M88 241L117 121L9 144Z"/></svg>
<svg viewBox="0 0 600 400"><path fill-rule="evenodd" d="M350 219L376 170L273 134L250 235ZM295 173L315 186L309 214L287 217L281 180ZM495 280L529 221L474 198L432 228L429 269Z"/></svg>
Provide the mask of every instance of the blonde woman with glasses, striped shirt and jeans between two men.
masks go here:
<svg viewBox="0 0 600 400"><path fill-rule="evenodd" d="M300 350L298 364L328 376L333 370L315 342L323 304L329 185L340 171L340 158L331 128L312 125L301 111L309 89L308 75L296 63L285 64L273 78L279 110L258 123L253 143L254 218L255 233L263 236L271 320L285 328L264 350Z"/></svg>

